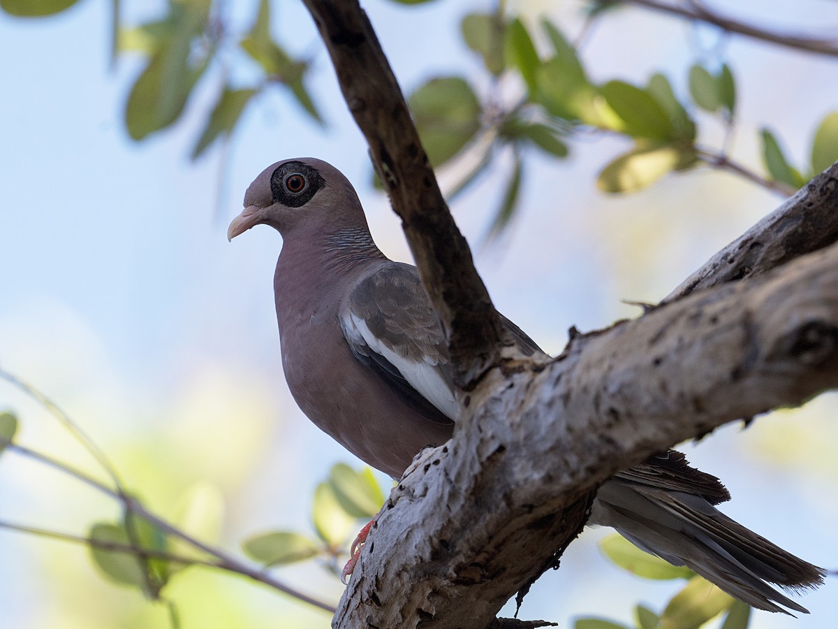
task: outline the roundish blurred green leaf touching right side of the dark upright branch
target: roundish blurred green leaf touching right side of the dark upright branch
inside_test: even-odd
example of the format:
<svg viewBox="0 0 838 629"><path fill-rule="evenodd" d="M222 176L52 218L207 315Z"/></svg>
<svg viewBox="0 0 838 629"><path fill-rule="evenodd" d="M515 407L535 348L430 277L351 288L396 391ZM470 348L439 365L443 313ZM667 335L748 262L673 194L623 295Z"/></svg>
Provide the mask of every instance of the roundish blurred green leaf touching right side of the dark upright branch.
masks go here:
<svg viewBox="0 0 838 629"><path fill-rule="evenodd" d="M457 76L432 79L408 99L422 146L435 166L444 164L480 128L480 103Z"/></svg>

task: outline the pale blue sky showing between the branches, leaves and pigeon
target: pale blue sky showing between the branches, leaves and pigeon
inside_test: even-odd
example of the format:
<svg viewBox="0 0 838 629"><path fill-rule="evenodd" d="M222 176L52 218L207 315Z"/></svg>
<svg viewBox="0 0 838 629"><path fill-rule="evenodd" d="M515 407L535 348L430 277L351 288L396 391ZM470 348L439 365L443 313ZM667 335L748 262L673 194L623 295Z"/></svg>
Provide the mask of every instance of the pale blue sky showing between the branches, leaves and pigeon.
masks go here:
<svg viewBox="0 0 838 629"><path fill-rule="evenodd" d="M122 108L141 65L125 56L116 70L108 69L105 3L88 0L38 21L0 15L0 51L7 60L0 65L0 365L59 401L118 464L142 478L148 493L158 488L165 494L164 471L178 468L173 485L209 479L220 487L230 505L223 541L234 547L257 528L308 526L313 486L334 461L349 460L293 406L282 380L272 295L281 238L263 228L226 242L226 225L241 209L246 186L278 159L326 159L354 181L380 247L409 259L398 220L367 185L363 138L310 18L297 3L275 4L277 34L314 54L312 88L328 127L305 122L285 96L267 96L246 112L226 161L216 149L196 164L187 155L199 133L197 115L143 143L127 137ZM478 75L458 41L462 4L365 4L406 89L437 74ZM566 29L580 28L573 3L519 4L532 12L556 7ZM789 29L838 23L835 3L791 4L754 1L737 10ZM243 27L251 9L235 8ZM128 17L141 17L138 10L127 7ZM142 18L154 14L142 10L148 11ZM691 47L696 41L698 48ZM584 57L597 80L640 81L665 70L683 88L687 65L713 44L706 29L630 12L600 24ZM756 130L768 124L802 162L816 122L838 109L838 65L743 39L732 39L727 50L741 104L734 155L760 169ZM209 82L199 86L189 112L206 112L213 91ZM706 142L717 141L720 129L712 123L708 129ZM566 162L536 161L510 232L493 247L475 247L499 309L550 351L561 350L570 325L588 330L636 314L621 299L660 299L779 204L773 195L708 170L666 179L639 195L606 198L593 179L625 148L617 139L582 140ZM503 172L490 172L453 205L475 245L489 225ZM443 173L443 187L456 177ZM0 408L7 405L21 414L28 444L83 460L33 404L0 383ZM723 429L691 459L723 476L734 495L726 509L732 517L835 568L838 538L829 522L838 511L838 469L824 454L825 444L835 444L828 421L835 401L813 408L774 415L744 433ZM7 459L0 460L0 496L8 497L0 500L0 517L68 530L89 521L85 507L107 512L73 490L65 493L54 477ZM167 500L175 497L160 503ZM49 552L43 543L0 531L0 606L16 619L12 626L50 626L55 617L25 602L56 574L74 574L72 564L63 571L49 566ZM562 565L536 585L525 616L599 611L628 621L631 603L644 598L660 605L672 591L610 569L591 539L574 544ZM608 611L591 584L608 587ZM49 607L65 609L54 588ZM339 587L328 592L337 596ZM791 621L759 614L753 626L832 626L836 601L830 581L805 597L812 616Z"/></svg>

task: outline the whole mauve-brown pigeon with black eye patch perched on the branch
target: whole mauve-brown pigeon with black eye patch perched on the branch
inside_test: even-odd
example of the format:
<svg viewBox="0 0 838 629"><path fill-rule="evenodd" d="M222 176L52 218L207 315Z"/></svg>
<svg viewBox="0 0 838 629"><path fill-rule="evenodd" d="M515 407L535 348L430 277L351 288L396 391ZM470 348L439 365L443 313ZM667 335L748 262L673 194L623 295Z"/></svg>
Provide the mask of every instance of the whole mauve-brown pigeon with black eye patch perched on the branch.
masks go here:
<svg viewBox="0 0 838 629"><path fill-rule="evenodd" d="M350 452L398 478L420 450L451 436L458 415L442 326L416 268L379 251L349 180L319 159L272 164L244 205L228 238L260 223L282 234L274 291L294 399ZM526 354L541 352L503 322ZM814 587L824 571L716 510L729 498L715 476L670 450L606 482L588 523L616 528L748 605L805 612L768 583Z"/></svg>

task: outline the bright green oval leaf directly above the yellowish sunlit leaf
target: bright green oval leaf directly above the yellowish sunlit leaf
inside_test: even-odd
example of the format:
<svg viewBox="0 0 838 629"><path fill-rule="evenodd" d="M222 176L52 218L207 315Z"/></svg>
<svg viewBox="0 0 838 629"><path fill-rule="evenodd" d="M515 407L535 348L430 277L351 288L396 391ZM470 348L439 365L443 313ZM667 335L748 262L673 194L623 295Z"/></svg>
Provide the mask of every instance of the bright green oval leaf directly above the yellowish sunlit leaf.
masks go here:
<svg viewBox="0 0 838 629"><path fill-rule="evenodd" d="M648 91L623 81L608 81L601 91L608 107L623 121L624 133L654 140L674 135L670 117Z"/></svg>

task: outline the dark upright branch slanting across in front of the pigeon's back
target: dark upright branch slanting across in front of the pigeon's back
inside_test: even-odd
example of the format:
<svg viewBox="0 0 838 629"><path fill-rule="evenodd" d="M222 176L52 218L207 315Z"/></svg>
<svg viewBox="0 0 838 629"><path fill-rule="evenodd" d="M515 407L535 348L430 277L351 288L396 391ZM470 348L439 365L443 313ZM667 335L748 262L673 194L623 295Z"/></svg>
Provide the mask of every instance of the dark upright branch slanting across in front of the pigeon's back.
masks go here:
<svg viewBox="0 0 838 629"><path fill-rule="evenodd" d="M494 363L498 314L419 141L404 96L356 0L303 0L331 55L349 111L401 216L422 282L448 333L458 382Z"/></svg>

